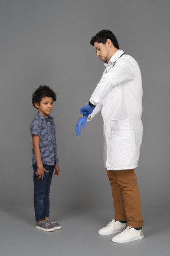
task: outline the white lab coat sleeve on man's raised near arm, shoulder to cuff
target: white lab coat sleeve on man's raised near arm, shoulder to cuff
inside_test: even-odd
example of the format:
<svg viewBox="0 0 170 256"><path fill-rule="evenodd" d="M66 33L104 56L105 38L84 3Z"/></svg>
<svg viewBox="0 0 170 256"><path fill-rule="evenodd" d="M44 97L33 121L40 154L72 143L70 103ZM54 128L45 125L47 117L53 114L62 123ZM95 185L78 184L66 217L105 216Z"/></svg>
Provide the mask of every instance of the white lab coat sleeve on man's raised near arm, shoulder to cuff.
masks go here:
<svg viewBox="0 0 170 256"><path fill-rule="evenodd" d="M117 60L115 66L111 68L107 73L104 73L102 78L94 89L90 98L90 103L97 105L103 98L109 94L109 92L124 82L128 82L135 77L135 67L133 61L130 59Z"/></svg>

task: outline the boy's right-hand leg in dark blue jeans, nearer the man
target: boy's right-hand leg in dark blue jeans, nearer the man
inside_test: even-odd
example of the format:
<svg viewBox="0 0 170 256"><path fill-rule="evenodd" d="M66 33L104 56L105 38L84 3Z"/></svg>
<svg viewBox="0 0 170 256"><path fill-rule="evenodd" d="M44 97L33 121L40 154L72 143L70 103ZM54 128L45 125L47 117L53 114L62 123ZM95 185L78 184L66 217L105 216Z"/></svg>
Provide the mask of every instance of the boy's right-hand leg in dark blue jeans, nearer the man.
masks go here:
<svg viewBox="0 0 170 256"><path fill-rule="evenodd" d="M50 216L50 186L53 178L55 165L44 165L44 168L47 169L44 175L47 175L47 184L45 187L45 197L44 197L44 217L47 220Z"/></svg>

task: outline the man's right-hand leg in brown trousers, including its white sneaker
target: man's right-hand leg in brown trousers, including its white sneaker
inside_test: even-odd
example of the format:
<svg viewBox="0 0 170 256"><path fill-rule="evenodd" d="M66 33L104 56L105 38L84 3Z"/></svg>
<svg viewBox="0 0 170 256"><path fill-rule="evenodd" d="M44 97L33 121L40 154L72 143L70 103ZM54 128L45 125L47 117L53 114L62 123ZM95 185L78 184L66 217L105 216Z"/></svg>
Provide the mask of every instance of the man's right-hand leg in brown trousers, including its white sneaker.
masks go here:
<svg viewBox="0 0 170 256"><path fill-rule="evenodd" d="M112 242L125 243L143 238L143 219L139 188L134 169L115 172L117 183L122 188L127 228L112 238Z"/></svg>

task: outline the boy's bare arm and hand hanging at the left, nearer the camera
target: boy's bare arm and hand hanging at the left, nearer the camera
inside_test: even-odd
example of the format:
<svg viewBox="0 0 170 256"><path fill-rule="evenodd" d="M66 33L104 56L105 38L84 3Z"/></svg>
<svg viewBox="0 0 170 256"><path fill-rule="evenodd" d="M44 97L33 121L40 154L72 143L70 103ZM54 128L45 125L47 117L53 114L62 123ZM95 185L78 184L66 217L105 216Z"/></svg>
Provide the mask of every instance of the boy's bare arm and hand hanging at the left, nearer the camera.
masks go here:
<svg viewBox="0 0 170 256"><path fill-rule="evenodd" d="M44 178L44 171L48 172L42 165L42 160L41 160L41 152L40 152L40 137L38 135L32 135L32 140L33 140L33 149L34 149L34 154L35 154L35 159L37 161L37 171L35 172L35 175L38 176L38 180L43 180Z"/></svg>

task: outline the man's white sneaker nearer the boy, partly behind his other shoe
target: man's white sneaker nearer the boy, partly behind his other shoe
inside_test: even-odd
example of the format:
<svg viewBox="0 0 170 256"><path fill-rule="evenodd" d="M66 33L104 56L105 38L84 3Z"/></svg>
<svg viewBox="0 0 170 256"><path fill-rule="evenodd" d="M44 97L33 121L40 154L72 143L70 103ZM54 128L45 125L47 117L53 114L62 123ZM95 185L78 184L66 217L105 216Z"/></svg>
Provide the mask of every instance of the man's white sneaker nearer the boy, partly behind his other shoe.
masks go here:
<svg viewBox="0 0 170 256"><path fill-rule="evenodd" d="M119 220L113 219L106 227L99 230L99 235L111 235L112 233L122 232L126 228L126 223L121 223Z"/></svg>

